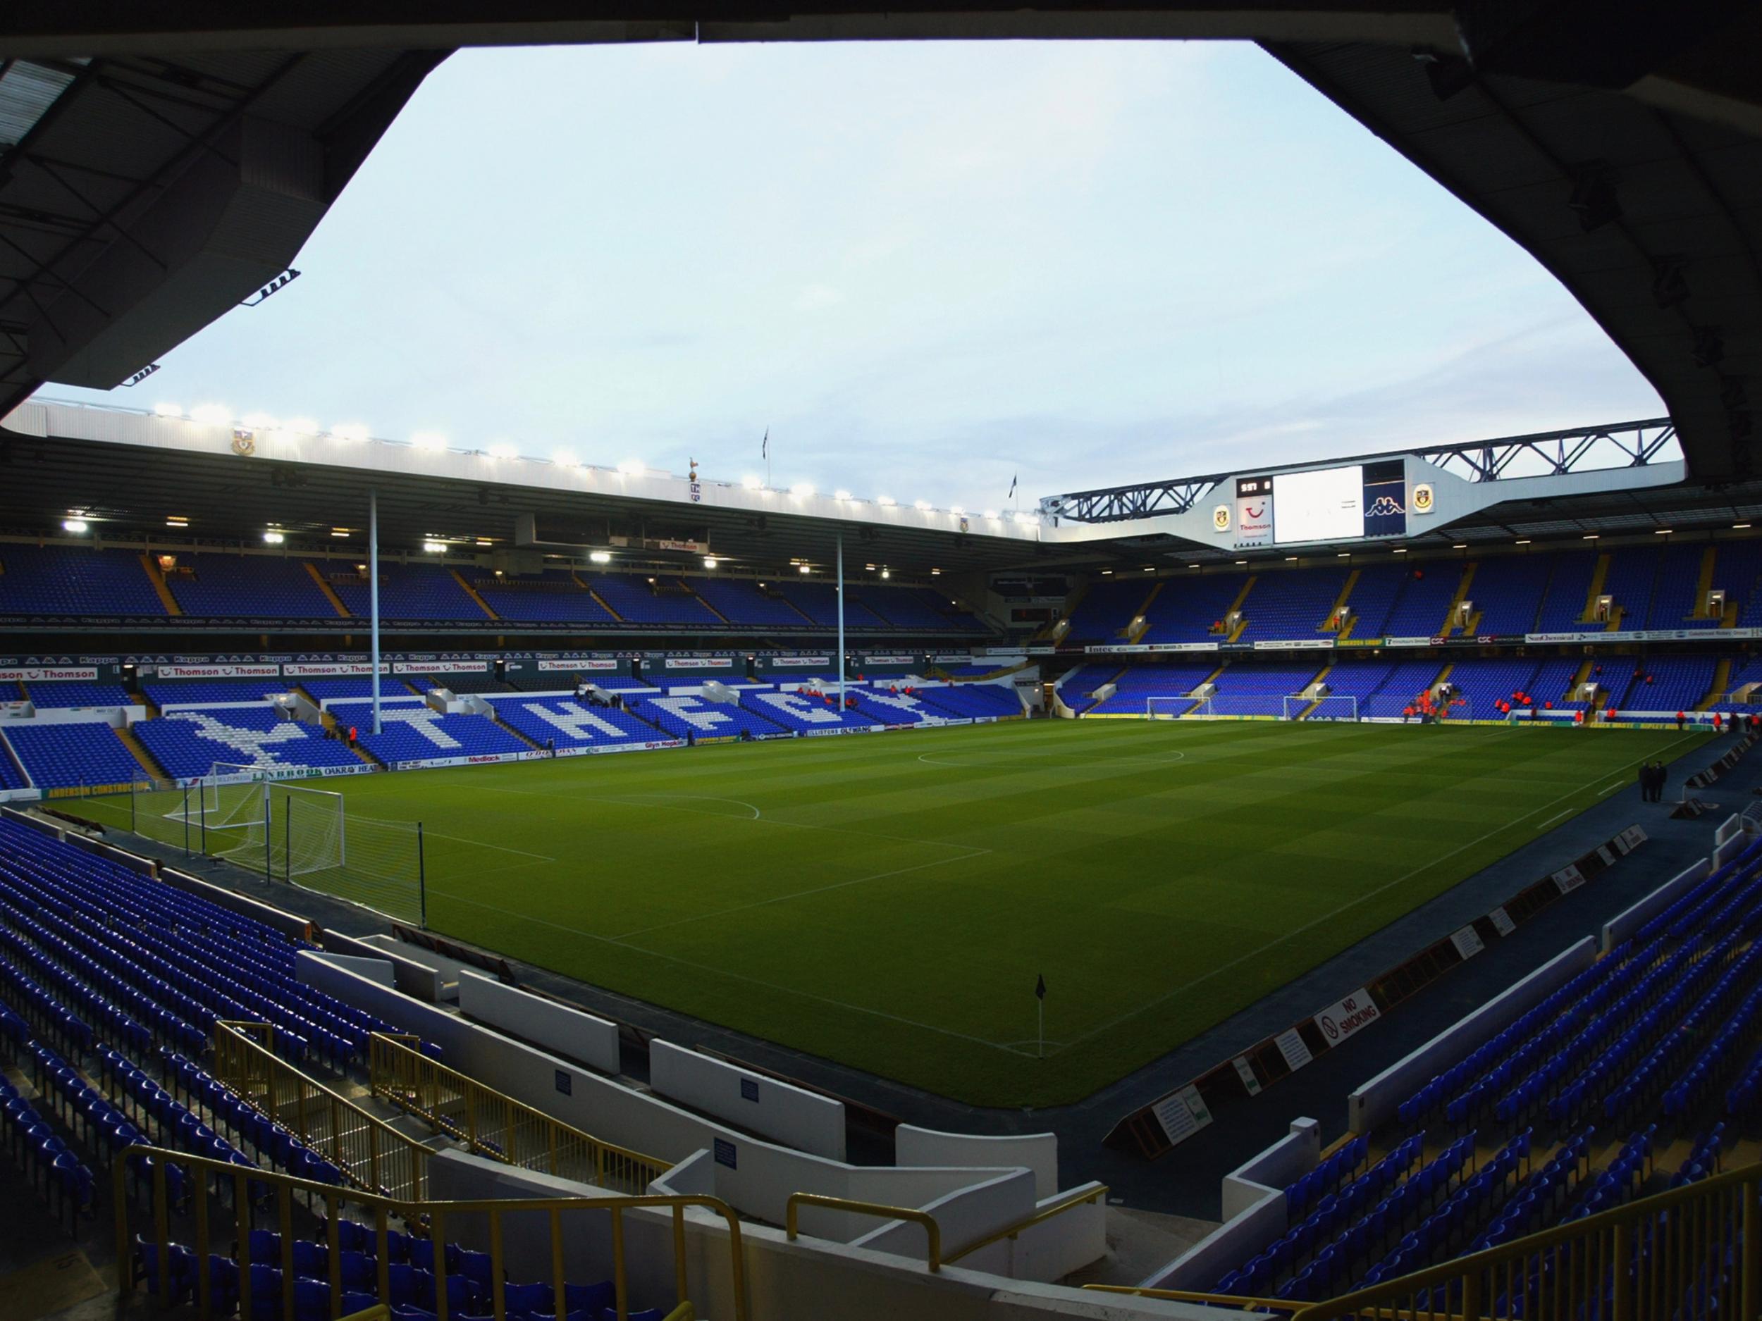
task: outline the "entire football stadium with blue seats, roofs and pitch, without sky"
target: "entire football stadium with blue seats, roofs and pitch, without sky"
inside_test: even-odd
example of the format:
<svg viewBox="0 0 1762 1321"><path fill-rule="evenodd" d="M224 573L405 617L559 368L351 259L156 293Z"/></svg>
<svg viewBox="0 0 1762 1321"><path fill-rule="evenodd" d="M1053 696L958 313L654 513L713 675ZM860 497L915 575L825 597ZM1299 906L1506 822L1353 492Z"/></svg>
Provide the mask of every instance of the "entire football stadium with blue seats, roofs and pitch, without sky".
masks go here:
<svg viewBox="0 0 1762 1321"><path fill-rule="evenodd" d="M0 16L0 1314L1762 1316L1753 12L284 9ZM139 389L474 48L1075 39L1663 409L973 511Z"/></svg>

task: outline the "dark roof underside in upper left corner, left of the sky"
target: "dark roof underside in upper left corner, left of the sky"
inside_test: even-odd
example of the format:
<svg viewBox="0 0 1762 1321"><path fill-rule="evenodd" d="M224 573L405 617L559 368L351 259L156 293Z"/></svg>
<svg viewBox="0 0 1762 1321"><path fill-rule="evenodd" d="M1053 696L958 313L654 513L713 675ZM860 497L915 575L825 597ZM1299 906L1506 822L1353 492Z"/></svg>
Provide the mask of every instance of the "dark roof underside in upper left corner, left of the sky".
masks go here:
<svg viewBox="0 0 1762 1321"><path fill-rule="evenodd" d="M275 280L440 58L0 58L0 412L123 384Z"/></svg>

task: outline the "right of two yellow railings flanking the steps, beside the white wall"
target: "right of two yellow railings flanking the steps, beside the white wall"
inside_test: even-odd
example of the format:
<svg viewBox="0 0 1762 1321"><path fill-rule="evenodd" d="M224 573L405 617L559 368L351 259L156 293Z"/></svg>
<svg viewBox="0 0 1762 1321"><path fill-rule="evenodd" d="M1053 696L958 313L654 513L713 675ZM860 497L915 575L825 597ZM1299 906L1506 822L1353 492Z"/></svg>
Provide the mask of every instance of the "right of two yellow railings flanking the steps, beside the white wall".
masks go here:
<svg viewBox="0 0 1762 1321"><path fill-rule="evenodd" d="M643 1192L671 1168L485 1087L414 1050L407 1044L412 1041L374 1034L368 1044L374 1096L426 1120L435 1133L458 1138L476 1155L615 1192Z"/></svg>

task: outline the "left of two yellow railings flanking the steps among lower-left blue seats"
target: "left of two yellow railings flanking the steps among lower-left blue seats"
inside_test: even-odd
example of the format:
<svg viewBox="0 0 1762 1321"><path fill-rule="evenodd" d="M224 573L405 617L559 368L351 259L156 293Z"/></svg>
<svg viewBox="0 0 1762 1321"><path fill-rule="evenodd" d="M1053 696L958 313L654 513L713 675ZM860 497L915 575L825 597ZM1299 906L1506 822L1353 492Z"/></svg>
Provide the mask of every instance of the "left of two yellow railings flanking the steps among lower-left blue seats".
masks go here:
<svg viewBox="0 0 1762 1321"><path fill-rule="evenodd" d="M277 1055L273 1025L220 1022L213 1043L215 1078L337 1166L345 1180L388 1198L426 1196L433 1152Z"/></svg>

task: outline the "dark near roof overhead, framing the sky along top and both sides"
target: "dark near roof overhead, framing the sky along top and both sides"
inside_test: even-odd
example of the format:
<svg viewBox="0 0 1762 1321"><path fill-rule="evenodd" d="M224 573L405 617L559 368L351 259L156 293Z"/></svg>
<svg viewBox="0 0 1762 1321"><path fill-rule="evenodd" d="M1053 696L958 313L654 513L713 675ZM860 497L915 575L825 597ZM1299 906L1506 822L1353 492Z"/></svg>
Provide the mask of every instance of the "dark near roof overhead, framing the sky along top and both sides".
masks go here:
<svg viewBox="0 0 1762 1321"><path fill-rule="evenodd" d="M803 2L761 16L650 0L589 16L532 0L19 0L0 14L0 123L21 130L0 143L0 412L44 380L127 380L278 275L456 44L1003 37L1262 42L1551 269L1658 389L1697 477L1751 472L1762 9L1734 0Z"/></svg>

